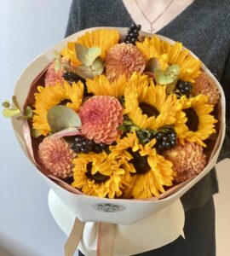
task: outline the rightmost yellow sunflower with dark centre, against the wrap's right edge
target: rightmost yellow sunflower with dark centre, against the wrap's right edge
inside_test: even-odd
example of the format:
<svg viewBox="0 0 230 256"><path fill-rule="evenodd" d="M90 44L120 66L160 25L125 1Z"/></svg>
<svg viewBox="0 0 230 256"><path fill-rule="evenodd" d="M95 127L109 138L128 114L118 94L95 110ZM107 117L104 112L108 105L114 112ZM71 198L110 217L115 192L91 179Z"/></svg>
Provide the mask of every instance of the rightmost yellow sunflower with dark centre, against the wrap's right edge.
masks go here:
<svg viewBox="0 0 230 256"><path fill-rule="evenodd" d="M210 114L213 111L213 105L209 105L208 96L198 95L187 99L182 96L180 102L182 110L186 113L187 121L181 125L181 131L175 131L180 142L184 145L185 141L197 143L203 147L206 144L203 142L215 133L215 124L217 120Z"/></svg>

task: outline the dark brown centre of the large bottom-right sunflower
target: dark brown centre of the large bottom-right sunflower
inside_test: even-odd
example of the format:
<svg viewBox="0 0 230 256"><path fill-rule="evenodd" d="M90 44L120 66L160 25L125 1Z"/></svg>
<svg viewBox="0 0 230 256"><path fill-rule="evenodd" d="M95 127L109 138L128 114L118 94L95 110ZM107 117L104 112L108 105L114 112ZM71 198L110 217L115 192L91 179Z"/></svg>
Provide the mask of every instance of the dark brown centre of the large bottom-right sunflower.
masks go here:
<svg viewBox="0 0 230 256"><path fill-rule="evenodd" d="M129 148L127 151L133 157L133 159L129 160L129 162L135 167L136 174L145 174L150 171L151 167L148 165L147 156L141 156L138 151L133 152L131 148Z"/></svg>

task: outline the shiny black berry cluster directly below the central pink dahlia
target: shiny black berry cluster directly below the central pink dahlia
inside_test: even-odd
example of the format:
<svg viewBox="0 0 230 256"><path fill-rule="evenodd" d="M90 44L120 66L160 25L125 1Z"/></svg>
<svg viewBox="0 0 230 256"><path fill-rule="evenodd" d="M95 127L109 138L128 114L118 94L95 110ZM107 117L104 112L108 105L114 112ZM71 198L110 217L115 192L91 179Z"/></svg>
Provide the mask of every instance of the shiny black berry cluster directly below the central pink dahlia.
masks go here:
<svg viewBox="0 0 230 256"><path fill-rule="evenodd" d="M89 151L93 151L98 154L106 149L107 146L104 143L95 143L93 140L89 140L86 137L78 135L75 137L74 142L70 144L70 147L77 154L88 154Z"/></svg>

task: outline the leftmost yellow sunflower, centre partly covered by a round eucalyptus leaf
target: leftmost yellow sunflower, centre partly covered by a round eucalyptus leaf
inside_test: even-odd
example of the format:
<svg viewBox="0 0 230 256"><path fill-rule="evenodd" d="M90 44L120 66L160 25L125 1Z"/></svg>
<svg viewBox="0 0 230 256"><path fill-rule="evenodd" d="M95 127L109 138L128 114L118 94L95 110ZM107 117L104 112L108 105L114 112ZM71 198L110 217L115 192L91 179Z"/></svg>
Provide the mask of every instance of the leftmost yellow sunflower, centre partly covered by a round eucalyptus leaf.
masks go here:
<svg viewBox="0 0 230 256"><path fill-rule="evenodd" d="M43 136L47 136L51 131L47 113L49 108L60 104L60 102L69 101L66 103L66 107L72 108L76 112L83 100L83 83L68 84L64 81L64 84L55 84L53 86L38 86L38 92L35 93L34 115L32 119L33 128L40 131Z"/></svg>

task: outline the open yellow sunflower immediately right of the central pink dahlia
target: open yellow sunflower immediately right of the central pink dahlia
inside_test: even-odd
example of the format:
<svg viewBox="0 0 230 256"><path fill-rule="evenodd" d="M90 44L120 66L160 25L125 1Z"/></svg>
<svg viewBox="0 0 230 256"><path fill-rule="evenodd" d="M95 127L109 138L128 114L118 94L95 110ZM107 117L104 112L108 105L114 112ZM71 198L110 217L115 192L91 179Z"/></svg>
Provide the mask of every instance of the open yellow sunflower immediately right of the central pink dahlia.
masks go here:
<svg viewBox="0 0 230 256"><path fill-rule="evenodd" d="M166 87L154 85L149 80L138 87L130 87L124 91L125 110L129 119L141 129L158 130L164 125L172 125L176 118L180 123L181 102L175 94L166 94ZM176 117L176 118L175 118Z"/></svg>

